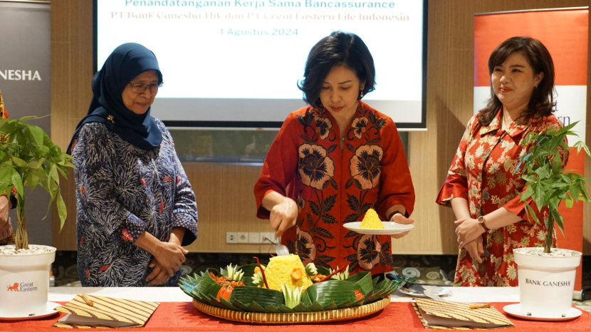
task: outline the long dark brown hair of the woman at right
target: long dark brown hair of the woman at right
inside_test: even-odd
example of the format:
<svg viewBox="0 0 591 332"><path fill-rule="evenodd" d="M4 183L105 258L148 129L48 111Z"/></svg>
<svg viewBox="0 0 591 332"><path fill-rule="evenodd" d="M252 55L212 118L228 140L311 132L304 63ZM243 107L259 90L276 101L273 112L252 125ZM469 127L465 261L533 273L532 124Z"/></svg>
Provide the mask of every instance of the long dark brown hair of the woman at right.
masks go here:
<svg viewBox="0 0 591 332"><path fill-rule="evenodd" d="M544 73L544 77L538 88L533 93L528 108L522 115L546 116L554 112L554 62L550 52L538 39L530 37L512 37L497 46L491 57L488 58L488 74L492 76L496 66L501 66L511 54L519 52L527 59L534 75ZM491 98L488 99L486 108L478 111L478 122L481 125L490 125L495 118L498 109L503 104L498 100L491 83Z"/></svg>

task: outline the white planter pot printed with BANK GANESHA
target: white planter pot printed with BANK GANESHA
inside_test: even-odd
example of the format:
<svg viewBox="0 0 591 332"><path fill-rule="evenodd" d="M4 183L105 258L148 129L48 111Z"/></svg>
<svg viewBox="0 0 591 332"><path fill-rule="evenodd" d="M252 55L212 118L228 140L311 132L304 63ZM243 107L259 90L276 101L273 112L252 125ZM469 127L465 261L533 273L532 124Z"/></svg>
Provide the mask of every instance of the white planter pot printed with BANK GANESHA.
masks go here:
<svg viewBox="0 0 591 332"><path fill-rule="evenodd" d="M573 256L533 256L524 251L543 248L513 249L518 264L519 302L524 316L545 318L566 317L572 306L577 266L582 254ZM552 249L555 251L557 249ZM564 249L558 249L564 250ZM564 316L563 316L564 315Z"/></svg>

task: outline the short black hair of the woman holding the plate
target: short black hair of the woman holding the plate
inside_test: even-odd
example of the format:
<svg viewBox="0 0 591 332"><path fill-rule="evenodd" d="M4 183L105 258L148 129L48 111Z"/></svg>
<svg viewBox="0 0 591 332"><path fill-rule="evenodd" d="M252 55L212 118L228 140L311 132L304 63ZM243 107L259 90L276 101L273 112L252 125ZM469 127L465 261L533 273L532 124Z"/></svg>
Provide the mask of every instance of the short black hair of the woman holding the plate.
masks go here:
<svg viewBox="0 0 591 332"><path fill-rule="evenodd" d="M360 83L365 82L363 95L375 90L375 66L372 53L355 33L335 31L320 39L308 54L304 78L298 82L303 100L321 108L320 89L334 66L345 66L355 72Z"/></svg>

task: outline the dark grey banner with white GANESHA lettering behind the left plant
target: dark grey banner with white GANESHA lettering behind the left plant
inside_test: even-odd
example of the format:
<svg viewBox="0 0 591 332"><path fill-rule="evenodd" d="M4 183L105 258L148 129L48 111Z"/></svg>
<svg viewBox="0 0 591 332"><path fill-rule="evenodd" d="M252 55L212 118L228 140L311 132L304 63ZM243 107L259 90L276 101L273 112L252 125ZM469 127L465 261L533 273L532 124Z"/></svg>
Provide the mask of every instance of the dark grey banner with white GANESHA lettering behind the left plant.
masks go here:
<svg viewBox="0 0 591 332"><path fill-rule="evenodd" d="M11 118L51 114L50 4L0 0L0 90ZM33 124L50 134L49 117ZM45 220L49 194L26 190L28 241L51 244L51 213ZM16 213L11 212L16 229Z"/></svg>

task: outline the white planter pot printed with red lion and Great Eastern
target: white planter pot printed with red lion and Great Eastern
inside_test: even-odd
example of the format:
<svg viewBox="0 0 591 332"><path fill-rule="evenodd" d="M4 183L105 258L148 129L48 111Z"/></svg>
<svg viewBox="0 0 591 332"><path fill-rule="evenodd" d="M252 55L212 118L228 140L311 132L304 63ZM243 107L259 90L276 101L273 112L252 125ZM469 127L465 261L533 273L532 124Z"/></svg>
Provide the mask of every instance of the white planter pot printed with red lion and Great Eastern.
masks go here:
<svg viewBox="0 0 591 332"><path fill-rule="evenodd" d="M45 254L0 254L0 317L26 317L46 311L51 263L56 248Z"/></svg>

